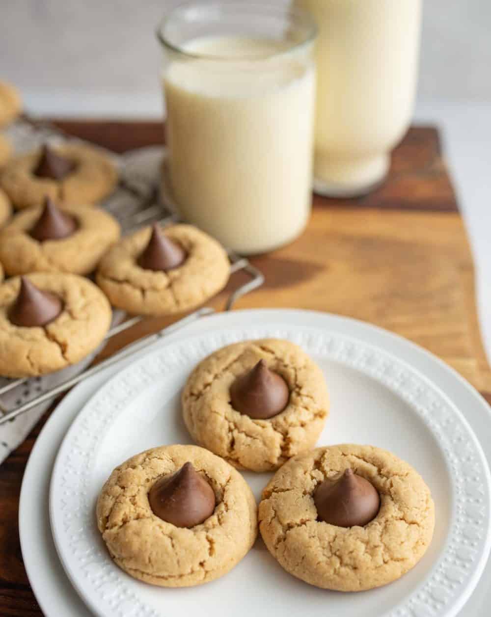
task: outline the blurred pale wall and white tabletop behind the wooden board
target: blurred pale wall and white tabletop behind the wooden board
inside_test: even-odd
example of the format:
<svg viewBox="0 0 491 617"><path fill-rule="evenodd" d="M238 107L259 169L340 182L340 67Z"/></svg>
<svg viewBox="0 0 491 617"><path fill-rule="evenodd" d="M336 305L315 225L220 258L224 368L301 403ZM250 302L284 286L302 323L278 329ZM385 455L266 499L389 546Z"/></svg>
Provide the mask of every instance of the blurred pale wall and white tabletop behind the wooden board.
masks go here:
<svg viewBox="0 0 491 617"><path fill-rule="evenodd" d="M38 114L159 117L160 51L154 30L178 3L0 0L0 76L19 85L28 109ZM416 118L444 129L476 260L489 357L490 67L491 1L426 0Z"/></svg>

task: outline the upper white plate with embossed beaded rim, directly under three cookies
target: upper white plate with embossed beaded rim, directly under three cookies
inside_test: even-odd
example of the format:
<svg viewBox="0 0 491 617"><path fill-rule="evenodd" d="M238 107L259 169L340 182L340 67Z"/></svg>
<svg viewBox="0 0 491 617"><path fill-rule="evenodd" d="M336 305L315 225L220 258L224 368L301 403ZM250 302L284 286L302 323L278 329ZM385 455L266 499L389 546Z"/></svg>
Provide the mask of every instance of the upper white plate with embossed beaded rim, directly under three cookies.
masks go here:
<svg viewBox="0 0 491 617"><path fill-rule="evenodd" d="M400 359L406 358L404 346L411 355L410 343L404 342L401 353L398 337L307 312L234 312L206 318L199 326L205 326L198 327L205 330L202 334L173 342L118 373L85 405L60 447L51 482L51 526L65 570L91 610L101 617L157 617L177 611L186 615L199 606L205 615L220 616L229 615L234 603L234 611L244 615L307 609L309 615L324 616L329 610L337 617L456 615L489 553L490 479L468 423L429 379L426 365L439 366L439 361L423 352L426 362L411 366ZM379 345L357 336L360 328L369 329ZM297 342L325 371L332 411L320 444L386 447L413 464L431 487L437 508L431 547L394 584L361 594L318 590L285 573L258 542L219 581L159 589L122 573L105 551L94 504L112 468L146 448L189 442L179 413L179 391L189 371L218 347L263 336ZM446 373L448 383L460 379L451 370ZM485 403L471 392L466 410L479 406L482 413ZM246 478L257 496L268 480L265 474ZM247 603L237 604L241 597Z"/></svg>

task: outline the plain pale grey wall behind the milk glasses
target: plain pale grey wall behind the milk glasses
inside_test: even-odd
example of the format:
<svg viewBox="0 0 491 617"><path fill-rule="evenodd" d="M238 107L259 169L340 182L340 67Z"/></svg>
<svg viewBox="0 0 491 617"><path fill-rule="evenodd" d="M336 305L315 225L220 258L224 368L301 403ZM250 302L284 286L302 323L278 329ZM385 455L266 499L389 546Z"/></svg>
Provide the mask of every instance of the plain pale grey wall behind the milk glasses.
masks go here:
<svg viewBox="0 0 491 617"><path fill-rule="evenodd" d="M154 30L181 2L0 0L0 75L33 94L56 87L154 97ZM490 29L489 0L424 1L421 101L491 101Z"/></svg>

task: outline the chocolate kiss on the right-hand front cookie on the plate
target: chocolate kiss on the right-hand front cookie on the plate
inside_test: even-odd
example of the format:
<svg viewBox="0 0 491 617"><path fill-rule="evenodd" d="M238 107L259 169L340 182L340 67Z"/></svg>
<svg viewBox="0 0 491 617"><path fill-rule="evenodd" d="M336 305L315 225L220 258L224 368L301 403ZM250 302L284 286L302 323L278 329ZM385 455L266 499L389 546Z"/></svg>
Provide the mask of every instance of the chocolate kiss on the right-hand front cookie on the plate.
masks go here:
<svg viewBox="0 0 491 617"><path fill-rule="evenodd" d="M365 478L347 469L339 479L324 480L314 492L318 520L338 527L363 527L380 508L377 489Z"/></svg>

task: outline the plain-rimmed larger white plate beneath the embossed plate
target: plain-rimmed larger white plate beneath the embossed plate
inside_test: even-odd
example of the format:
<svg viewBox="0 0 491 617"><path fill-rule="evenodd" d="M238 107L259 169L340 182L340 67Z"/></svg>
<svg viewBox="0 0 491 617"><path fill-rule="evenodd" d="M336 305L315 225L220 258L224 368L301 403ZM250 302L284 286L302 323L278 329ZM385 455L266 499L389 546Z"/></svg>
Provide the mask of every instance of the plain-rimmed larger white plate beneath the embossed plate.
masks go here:
<svg viewBox="0 0 491 617"><path fill-rule="evenodd" d="M356 337L360 341L376 345L398 357L405 358L407 363L422 371L435 386L445 391L453 404L463 410L474 432L479 435L488 461L491 461L491 408L489 405L460 375L443 362L421 347L392 333L360 321L325 313L300 310L254 310L233 311L227 315L217 315L197 321L187 326L185 335L236 328L244 323L260 326L271 322L276 326L284 327L307 324L318 328L335 329L340 334ZM175 341L183 336L184 332L173 334L155 347L160 348L167 344L167 341ZM99 375L79 384L64 397L39 434L23 476L19 505L22 557L36 599L46 617L60 617L60 615L90 617L93 615L76 594L57 557L49 524L49 481L56 454L73 419L99 386L108 381L110 376L121 370L122 366L127 363L128 361L111 366ZM489 616L490 580L491 559L487 561L476 589L459 612L461 617ZM250 592L254 593L254 587L250 587L249 594ZM249 594L247 599L249 599ZM462 603L464 600L465 597L461 598ZM454 614L457 610L458 605L453 605ZM448 615L452 614L450 611L447 612ZM307 607L303 607L303 613L308 613ZM288 614L292 614L291 611ZM326 604L326 615L328 614L329 605Z"/></svg>

